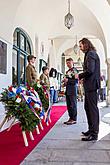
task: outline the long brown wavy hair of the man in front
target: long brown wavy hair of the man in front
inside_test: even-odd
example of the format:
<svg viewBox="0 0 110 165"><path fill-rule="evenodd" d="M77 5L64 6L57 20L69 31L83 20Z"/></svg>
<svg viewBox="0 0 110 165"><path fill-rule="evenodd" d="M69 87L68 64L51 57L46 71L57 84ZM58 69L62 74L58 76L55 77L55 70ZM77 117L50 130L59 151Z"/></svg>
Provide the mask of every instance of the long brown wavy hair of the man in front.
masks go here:
<svg viewBox="0 0 110 165"><path fill-rule="evenodd" d="M82 43L84 46L84 50L85 51L91 51L94 50L96 51L96 48L94 47L94 45L91 43L90 40L88 40L87 38L83 38L79 41L79 43Z"/></svg>

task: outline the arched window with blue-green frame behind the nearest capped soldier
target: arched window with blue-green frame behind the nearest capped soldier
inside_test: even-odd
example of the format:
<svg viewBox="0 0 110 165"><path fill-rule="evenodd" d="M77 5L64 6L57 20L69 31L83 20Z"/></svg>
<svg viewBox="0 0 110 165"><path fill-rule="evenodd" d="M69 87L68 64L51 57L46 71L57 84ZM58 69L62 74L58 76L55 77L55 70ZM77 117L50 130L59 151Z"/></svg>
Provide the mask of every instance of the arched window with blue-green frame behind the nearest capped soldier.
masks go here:
<svg viewBox="0 0 110 165"><path fill-rule="evenodd" d="M25 32L17 28L13 35L12 54L12 83L13 85L26 84L27 56L31 55L30 38Z"/></svg>

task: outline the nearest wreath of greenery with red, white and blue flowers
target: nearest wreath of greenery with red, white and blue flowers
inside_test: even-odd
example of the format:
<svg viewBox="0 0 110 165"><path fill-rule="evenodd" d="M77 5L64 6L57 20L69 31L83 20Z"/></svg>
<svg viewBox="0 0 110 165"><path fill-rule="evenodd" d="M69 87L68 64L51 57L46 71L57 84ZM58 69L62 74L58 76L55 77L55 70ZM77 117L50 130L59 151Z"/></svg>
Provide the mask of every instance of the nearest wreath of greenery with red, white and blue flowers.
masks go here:
<svg viewBox="0 0 110 165"><path fill-rule="evenodd" d="M17 119L22 131L33 131L39 124L42 103L34 88L10 86L1 93L0 101L5 104L7 119Z"/></svg>

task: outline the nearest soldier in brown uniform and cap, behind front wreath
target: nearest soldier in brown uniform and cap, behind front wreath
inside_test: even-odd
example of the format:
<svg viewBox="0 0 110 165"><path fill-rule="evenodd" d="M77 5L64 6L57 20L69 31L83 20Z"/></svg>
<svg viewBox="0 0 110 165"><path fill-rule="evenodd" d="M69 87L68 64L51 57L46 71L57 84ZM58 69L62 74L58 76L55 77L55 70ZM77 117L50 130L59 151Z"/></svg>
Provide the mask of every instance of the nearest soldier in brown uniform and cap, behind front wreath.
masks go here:
<svg viewBox="0 0 110 165"><path fill-rule="evenodd" d="M36 57L33 55L27 56L28 65L26 67L26 81L29 86L33 86L37 80L37 72L35 69Z"/></svg>

